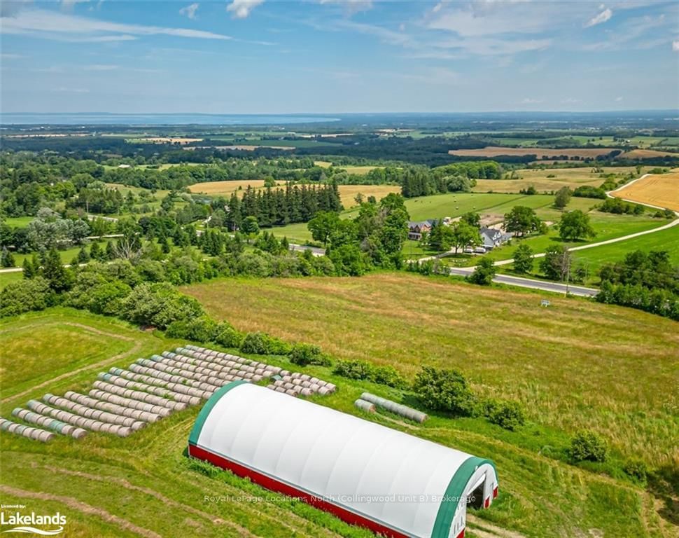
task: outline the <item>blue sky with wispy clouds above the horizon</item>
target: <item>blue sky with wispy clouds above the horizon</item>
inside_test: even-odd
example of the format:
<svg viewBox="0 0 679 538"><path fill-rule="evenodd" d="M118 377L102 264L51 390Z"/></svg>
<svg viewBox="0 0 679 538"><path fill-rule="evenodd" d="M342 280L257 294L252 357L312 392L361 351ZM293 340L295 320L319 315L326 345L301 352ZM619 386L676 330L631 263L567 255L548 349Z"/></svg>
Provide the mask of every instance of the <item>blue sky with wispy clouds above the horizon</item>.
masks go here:
<svg viewBox="0 0 679 538"><path fill-rule="evenodd" d="M5 112L679 108L679 4L3 0Z"/></svg>

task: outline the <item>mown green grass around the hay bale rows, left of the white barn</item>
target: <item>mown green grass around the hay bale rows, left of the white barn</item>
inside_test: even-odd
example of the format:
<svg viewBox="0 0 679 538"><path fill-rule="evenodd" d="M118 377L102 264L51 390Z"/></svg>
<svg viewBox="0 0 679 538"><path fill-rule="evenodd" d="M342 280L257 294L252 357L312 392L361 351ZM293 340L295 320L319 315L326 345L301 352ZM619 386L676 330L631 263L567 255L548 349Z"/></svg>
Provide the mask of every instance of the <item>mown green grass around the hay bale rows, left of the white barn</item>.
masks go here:
<svg viewBox="0 0 679 538"><path fill-rule="evenodd" d="M98 372L183 345L62 308L3 319L0 344L5 418L31 398L87 393ZM200 472L183 455L200 407L127 438L90 432L80 440L56 436L38 443L0 432L3 504L25 504L29 513L59 511L67 519L65 537L372 536L299 503L265 502L265 490L232 474ZM207 495L225 498L210 502Z"/></svg>

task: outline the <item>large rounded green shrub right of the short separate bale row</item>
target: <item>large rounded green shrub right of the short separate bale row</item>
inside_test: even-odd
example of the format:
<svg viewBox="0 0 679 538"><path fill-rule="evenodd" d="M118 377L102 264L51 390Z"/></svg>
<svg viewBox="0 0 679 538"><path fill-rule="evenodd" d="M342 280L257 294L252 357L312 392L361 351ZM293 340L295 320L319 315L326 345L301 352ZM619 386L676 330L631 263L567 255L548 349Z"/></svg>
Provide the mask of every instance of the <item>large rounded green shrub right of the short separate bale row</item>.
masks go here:
<svg viewBox="0 0 679 538"><path fill-rule="evenodd" d="M475 396L467 380L456 370L423 366L415 376L413 388L419 399L430 409L462 416L475 413Z"/></svg>

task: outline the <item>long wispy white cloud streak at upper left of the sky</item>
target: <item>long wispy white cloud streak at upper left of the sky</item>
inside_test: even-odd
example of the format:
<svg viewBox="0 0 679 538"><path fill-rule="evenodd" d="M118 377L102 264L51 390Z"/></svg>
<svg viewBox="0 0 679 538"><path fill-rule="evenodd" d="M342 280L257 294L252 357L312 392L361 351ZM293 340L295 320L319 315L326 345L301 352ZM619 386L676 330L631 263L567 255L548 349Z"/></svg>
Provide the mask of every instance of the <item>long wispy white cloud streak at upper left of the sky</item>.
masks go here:
<svg viewBox="0 0 679 538"><path fill-rule="evenodd" d="M232 39L230 36L202 30L108 22L46 9L20 11L14 17L3 18L0 33L29 34L62 41L69 41L72 37L77 38L76 41L129 41L135 39L133 36L153 35L195 39Z"/></svg>

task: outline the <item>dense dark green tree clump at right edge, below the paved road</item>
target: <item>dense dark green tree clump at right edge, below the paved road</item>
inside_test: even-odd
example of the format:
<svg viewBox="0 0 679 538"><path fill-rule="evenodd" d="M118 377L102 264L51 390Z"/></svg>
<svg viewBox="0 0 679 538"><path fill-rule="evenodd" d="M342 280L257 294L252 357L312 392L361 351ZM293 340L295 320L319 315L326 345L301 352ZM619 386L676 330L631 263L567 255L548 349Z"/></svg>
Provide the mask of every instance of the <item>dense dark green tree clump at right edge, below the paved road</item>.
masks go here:
<svg viewBox="0 0 679 538"><path fill-rule="evenodd" d="M679 268L667 251L636 250L599 270L599 303L629 306L679 321Z"/></svg>

